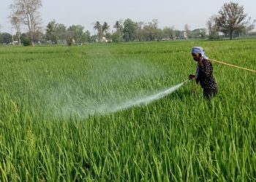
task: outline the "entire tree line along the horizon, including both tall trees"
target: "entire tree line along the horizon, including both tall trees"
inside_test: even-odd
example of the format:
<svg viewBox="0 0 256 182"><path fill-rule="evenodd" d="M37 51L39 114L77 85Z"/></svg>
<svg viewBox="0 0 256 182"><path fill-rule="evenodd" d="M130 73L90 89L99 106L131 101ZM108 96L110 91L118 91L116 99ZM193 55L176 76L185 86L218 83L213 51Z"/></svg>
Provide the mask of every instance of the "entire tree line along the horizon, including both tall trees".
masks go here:
<svg viewBox="0 0 256 182"><path fill-rule="evenodd" d="M41 0L13 0L10 4L10 23L16 33L0 33L0 43L33 45L35 42L48 44L83 44L86 42L102 41L159 41L174 39L219 39L219 32L224 36L233 36L237 33L248 32L254 25L248 25L244 7L238 3L225 3L219 10L218 15L212 15L207 21L206 28L197 28L190 31L189 25L184 25L184 31L176 30L174 27L159 28L158 21L152 20L149 23L135 22L129 18L116 20L112 25L107 22L94 24L95 34L91 35L85 31L82 25L71 25L67 27L62 23L51 20L46 28L40 27L41 17L39 8L42 7ZM25 26L28 32L21 33L21 26ZM45 33L43 33L45 29Z"/></svg>

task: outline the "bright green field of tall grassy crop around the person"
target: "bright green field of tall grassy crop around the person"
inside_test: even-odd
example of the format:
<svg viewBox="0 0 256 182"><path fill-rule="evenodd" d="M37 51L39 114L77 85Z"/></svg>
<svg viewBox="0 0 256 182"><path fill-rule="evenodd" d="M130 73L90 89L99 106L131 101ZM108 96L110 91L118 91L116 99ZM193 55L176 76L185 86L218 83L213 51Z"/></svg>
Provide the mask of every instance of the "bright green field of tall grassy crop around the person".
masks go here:
<svg viewBox="0 0 256 182"><path fill-rule="evenodd" d="M254 73L110 112L186 80L193 46L256 70L255 40L0 47L0 181L255 181Z"/></svg>

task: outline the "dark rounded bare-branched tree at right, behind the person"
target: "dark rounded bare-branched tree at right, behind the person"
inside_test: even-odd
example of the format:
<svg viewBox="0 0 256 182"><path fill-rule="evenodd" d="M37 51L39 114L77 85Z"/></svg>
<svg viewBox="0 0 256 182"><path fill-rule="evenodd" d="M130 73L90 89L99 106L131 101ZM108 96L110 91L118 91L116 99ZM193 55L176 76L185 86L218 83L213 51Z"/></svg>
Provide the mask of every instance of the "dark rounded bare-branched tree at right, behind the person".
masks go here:
<svg viewBox="0 0 256 182"><path fill-rule="evenodd" d="M233 38L233 32L240 32L244 29L245 25L244 7L239 6L237 3L225 3L222 9L219 10L219 16L216 18L217 27L219 31Z"/></svg>

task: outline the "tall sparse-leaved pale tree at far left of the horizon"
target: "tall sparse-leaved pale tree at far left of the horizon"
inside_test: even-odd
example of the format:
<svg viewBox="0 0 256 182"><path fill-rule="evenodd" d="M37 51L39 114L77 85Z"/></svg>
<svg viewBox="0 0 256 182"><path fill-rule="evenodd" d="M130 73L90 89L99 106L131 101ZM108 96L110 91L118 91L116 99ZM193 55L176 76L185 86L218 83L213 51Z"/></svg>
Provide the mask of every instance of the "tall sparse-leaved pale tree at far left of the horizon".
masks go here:
<svg viewBox="0 0 256 182"><path fill-rule="evenodd" d="M41 0L13 0L11 17L18 17L29 29L29 39L34 46L35 34L39 30L41 18L38 9L42 7Z"/></svg>

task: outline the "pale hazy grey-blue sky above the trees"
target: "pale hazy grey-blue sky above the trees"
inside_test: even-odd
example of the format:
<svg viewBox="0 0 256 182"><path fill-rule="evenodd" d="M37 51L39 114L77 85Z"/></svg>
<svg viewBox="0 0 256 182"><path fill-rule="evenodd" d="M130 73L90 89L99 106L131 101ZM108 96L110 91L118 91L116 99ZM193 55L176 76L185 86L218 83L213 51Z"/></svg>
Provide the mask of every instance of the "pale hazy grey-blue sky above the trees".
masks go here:
<svg viewBox="0 0 256 182"><path fill-rule="evenodd" d="M11 33L12 26L8 20L12 0L1 0L0 31ZM223 4L229 0L42 0L39 9L42 25L51 21L69 25L83 25L84 30L94 32L94 23L107 22L110 28L116 20L132 19L136 22L151 22L157 19L159 28L172 27L183 30L187 23L189 29L206 28L206 21L211 15L218 14ZM244 6L244 12L252 20L256 19L255 0L237 0Z"/></svg>

